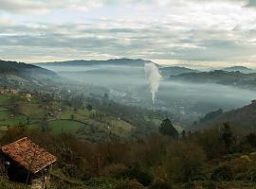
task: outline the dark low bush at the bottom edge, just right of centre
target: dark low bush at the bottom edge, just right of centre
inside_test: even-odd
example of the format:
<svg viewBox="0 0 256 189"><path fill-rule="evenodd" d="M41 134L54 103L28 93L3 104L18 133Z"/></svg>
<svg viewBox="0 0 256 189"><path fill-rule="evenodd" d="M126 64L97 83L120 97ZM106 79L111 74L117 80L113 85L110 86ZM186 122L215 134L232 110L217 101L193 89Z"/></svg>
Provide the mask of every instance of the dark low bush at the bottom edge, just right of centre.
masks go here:
<svg viewBox="0 0 256 189"><path fill-rule="evenodd" d="M130 180L137 180L144 186L148 186L153 181L153 175L147 171L141 170L139 167L130 168L122 172L121 177L128 178Z"/></svg>

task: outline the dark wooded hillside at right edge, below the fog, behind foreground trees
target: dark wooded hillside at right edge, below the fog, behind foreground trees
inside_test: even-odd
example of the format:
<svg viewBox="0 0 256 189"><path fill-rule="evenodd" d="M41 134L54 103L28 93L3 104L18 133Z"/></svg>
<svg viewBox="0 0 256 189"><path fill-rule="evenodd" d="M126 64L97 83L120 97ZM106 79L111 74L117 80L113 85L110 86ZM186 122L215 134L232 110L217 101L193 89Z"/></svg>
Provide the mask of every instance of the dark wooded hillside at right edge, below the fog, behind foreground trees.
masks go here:
<svg viewBox="0 0 256 189"><path fill-rule="evenodd" d="M221 126L224 122L245 130L256 129L256 102L229 112L218 113L218 116L212 116L211 119L204 119L196 126L196 129L207 129L215 126Z"/></svg>

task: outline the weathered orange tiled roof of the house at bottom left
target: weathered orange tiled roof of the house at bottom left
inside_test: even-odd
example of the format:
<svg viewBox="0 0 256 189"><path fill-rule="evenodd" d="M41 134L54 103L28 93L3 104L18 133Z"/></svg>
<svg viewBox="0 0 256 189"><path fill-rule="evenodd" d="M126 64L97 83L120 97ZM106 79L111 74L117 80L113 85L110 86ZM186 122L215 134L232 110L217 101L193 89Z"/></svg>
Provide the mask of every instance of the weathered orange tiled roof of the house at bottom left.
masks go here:
<svg viewBox="0 0 256 189"><path fill-rule="evenodd" d="M2 151L15 162L23 165L32 173L37 173L47 165L56 162L56 157L48 153L44 148L32 143L24 137L7 146L2 146Z"/></svg>

